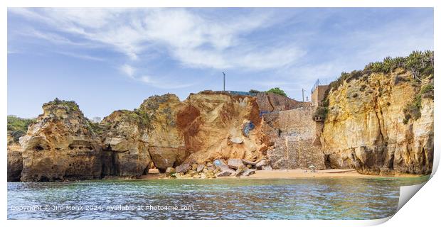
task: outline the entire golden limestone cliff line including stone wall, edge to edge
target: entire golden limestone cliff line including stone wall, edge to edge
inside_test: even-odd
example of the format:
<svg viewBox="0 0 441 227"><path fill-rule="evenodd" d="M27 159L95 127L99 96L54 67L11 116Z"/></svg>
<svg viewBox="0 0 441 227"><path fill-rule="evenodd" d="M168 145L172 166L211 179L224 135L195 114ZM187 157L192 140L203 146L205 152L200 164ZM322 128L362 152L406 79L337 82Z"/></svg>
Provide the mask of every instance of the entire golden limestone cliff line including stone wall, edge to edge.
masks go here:
<svg viewBox="0 0 441 227"><path fill-rule="evenodd" d="M342 74L312 103L263 93L151 96L100 123L55 99L36 121L8 118L8 181L140 177L154 167L264 158L275 169L429 174L432 66L433 52L386 58Z"/></svg>

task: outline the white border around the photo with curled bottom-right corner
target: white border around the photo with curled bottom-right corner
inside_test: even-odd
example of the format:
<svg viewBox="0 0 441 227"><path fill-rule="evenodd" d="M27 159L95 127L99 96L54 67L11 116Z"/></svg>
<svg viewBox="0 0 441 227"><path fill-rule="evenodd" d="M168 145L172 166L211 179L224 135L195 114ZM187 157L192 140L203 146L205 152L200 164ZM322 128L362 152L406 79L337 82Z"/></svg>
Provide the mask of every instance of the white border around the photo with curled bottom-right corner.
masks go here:
<svg viewBox="0 0 441 227"><path fill-rule="evenodd" d="M233 0L169 0L162 2L143 2L139 0L108 0L108 1L87 1L87 0L75 0L75 1L55 1L55 0L40 0L40 1L1 1L1 13L0 13L0 24L1 31L1 53L4 57L1 58L0 69L3 71L1 73L1 115L3 116L3 121L1 121L0 128L6 128L6 108L7 108L7 8L8 7L434 7L435 8L435 56L437 56L438 43L440 40L440 3L437 0L308 0L308 1L289 1L289 0L254 0L254 1L233 1ZM439 77L440 74L440 61L435 61L435 74ZM435 87L439 88L440 79L435 79ZM441 115L439 113L440 106L439 103L440 92L435 89L435 132L440 130ZM1 131L0 138L6 138L6 131ZM435 137L436 138L436 137ZM3 214L1 222L3 226L95 226L105 225L105 226L122 226L127 224L127 221L8 221L6 202L7 202L7 187L6 187L6 139L1 140L1 147L4 148L4 153L1 156L1 169L4 170L4 174L1 175L1 182L3 187L1 187L1 201L3 201L2 206L0 206L0 212ZM414 223L415 226L421 226L423 224L435 223L439 212L437 210L440 208L440 196L438 193L440 190L440 177L435 175L438 164L440 160L440 140L435 139L435 154L433 163L432 179L427 182L427 186L421 189L420 193L416 194L415 199L411 199L408 204L406 204L402 210L396 214L391 221L387 223L386 226L390 225L404 225ZM429 188L430 187L430 188ZM423 193L424 192L424 193ZM418 199L418 200L417 200ZM292 226L293 224L298 224L301 226L371 226L379 223L388 221L389 218L383 218L378 220L370 221L129 221L130 224L139 225L160 225L166 224L169 226L194 226L196 225L211 225L211 226L224 226L226 225L272 225L276 224L278 226ZM432 222L433 221L433 222ZM228 223L227 223L228 222Z"/></svg>

